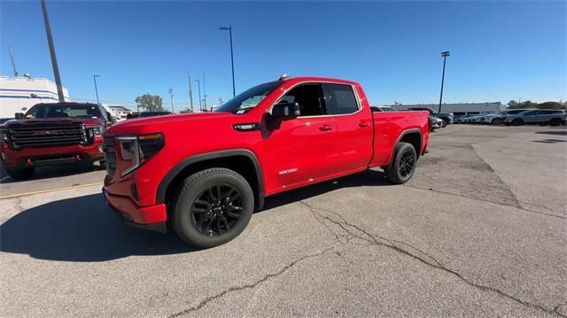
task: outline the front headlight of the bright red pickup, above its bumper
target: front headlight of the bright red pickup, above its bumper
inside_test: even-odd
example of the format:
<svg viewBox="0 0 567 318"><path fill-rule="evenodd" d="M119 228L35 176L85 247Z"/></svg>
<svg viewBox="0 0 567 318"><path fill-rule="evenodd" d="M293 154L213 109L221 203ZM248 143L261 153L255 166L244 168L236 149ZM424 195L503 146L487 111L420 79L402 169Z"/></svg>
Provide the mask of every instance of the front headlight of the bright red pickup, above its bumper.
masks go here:
<svg viewBox="0 0 567 318"><path fill-rule="evenodd" d="M124 161L131 161L121 176L128 175L140 167L145 161L151 159L158 153L164 145L163 135L150 134L142 136L117 136L116 140L120 143L120 158Z"/></svg>

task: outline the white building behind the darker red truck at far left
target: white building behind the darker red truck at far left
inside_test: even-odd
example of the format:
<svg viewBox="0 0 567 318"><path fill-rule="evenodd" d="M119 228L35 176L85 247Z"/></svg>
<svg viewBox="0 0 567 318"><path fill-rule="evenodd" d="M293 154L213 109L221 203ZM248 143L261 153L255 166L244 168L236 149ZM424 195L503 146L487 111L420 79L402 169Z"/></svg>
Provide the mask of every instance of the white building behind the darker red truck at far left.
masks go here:
<svg viewBox="0 0 567 318"><path fill-rule="evenodd" d="M66 88L63 88L63 96L66 102L70 101ZM0 118L14 117L14 113L26 112L35 104L57 102L57 86L54 81L29 76L0 76Z"/></svg>

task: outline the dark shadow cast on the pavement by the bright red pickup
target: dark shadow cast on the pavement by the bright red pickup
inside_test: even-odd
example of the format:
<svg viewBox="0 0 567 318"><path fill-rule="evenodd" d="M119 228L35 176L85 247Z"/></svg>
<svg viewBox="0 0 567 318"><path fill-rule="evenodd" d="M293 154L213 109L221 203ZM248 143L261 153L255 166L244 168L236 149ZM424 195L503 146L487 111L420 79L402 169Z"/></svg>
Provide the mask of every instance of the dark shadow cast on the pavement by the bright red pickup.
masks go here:
<svg viewBox="0 0 567 318"><path fill-rule="evenodd" d="M387 185L384 175L367 171L279 194L266 200L268 211L346 187ZM20 198L25 200L26 198ZM131 255L167 255L196 250L176 237L122 224L102 194L66 198L24 210L0 226L0 250L40 260L97 262Z"/></svg>

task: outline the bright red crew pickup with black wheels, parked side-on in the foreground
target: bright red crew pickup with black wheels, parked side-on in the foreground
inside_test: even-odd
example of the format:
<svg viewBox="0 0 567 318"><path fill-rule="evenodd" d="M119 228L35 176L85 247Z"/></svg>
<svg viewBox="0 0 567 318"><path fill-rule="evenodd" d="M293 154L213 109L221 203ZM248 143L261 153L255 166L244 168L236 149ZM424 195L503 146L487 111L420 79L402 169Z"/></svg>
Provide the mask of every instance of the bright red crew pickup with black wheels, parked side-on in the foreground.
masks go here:
<svg viewBox="0 0 567 318"><path fill-rule="evenodd" d="M354 81L282 77L216 112L122 121L104 135L107 202L128 224L206 248L237 237L264 198L383 167L407 182L428 112L372 112Z"/></svg>

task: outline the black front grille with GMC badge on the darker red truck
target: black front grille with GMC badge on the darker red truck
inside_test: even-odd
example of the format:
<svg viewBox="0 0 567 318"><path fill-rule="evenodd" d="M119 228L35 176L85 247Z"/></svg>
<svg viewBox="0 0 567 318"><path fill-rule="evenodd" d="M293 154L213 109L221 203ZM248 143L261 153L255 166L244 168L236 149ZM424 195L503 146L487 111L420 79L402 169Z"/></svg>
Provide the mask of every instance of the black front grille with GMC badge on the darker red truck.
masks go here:
<svg viewBox="0 0 567 318"><path fill-rule="evenodd" d="M79 144L87 140L83 125L42 125L9 129L13 148Z"/></svg>

